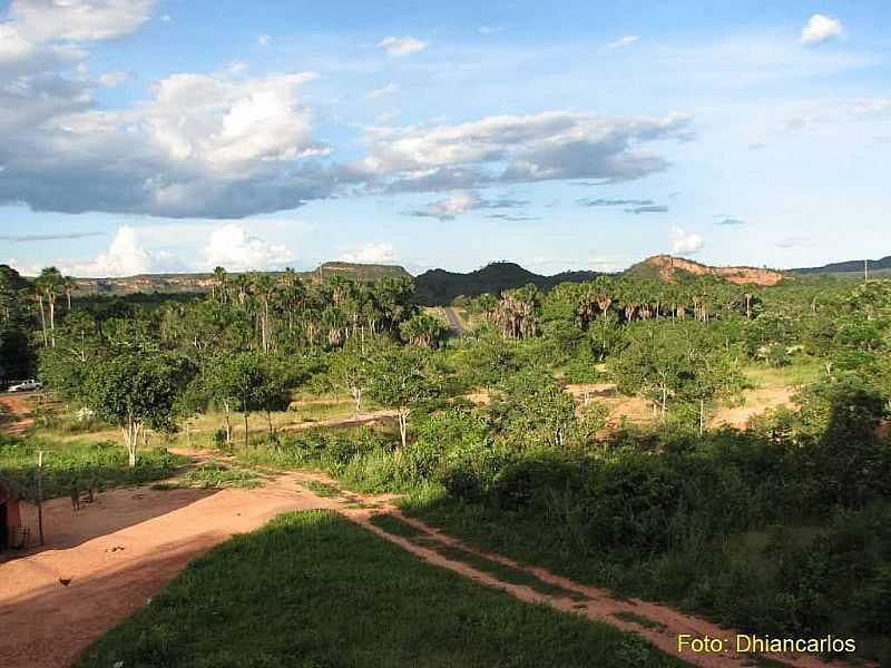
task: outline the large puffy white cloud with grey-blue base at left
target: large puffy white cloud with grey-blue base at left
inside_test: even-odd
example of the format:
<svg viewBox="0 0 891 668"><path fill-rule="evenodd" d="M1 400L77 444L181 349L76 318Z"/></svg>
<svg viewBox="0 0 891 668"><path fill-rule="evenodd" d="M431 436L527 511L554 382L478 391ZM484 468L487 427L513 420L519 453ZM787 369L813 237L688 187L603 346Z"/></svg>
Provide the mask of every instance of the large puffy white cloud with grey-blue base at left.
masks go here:
<svg viewBox="0 0 891 668"><path fill-rule="evenodd" d="M297 99L314 78L179 73L158 81L154 99L112 111L65 79L0 89L0 202L232 218L327 196L333 176L312 160L327 149Z"/></svg>

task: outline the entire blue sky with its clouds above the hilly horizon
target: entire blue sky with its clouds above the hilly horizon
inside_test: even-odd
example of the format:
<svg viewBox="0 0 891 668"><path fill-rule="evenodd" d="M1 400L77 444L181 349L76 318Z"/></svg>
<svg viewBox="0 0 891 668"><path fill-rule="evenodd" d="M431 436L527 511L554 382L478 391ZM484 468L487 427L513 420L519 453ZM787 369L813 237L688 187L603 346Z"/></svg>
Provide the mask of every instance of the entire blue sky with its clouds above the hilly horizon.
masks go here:
<svg viewBox="0 0 891 668"><path fill-rule="evenodd" d="M0 262L25 273L891 254L887 2L0 16Z"/></svg>

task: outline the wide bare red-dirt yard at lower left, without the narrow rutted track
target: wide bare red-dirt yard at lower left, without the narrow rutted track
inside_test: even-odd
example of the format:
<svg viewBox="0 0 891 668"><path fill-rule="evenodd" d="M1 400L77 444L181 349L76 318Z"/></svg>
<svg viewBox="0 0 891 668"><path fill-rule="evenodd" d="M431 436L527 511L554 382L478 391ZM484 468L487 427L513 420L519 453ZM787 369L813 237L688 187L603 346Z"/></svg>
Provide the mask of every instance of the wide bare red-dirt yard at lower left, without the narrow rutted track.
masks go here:
<svg viewBox="0 0 891 668"><path fill-rule="evenodd" d="M46 549L0 562L0 666L68 666L212 547L283 512L334 505L287 475L254 490L115 490L77 513L49 501Z"/></svg>

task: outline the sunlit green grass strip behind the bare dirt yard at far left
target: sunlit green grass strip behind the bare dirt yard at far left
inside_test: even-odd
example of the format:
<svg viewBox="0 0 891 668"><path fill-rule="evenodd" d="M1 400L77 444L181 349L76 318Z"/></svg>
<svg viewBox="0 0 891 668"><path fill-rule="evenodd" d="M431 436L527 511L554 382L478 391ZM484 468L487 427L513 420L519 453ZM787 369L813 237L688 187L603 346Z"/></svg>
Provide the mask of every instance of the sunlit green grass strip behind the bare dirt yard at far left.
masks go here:
<svg viewBox="0 0 891 668"><path fill-rule="evenodd" d="M123 445L108 441L57 442L46 438L0 436L0 473L37 491L37 453L43 451L43 497L63 497L76 483L86 489L95 478L99 489L146 484L174 475L190 460L164 449L141 450L129 466Z"/></svg>

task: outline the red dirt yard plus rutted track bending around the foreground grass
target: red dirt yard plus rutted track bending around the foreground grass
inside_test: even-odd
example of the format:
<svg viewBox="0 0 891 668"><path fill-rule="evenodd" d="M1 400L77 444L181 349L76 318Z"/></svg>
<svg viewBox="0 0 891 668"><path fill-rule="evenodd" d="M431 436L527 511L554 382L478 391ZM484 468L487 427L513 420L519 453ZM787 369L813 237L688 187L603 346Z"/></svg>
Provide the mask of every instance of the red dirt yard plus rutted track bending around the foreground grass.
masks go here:
<svg viewBox="0 0 891 668"><path fill-rule="evenodd" d="M199 460L206 456L206 453L193 454ZM97 503L77 513L72 513L67 499L48 502L45 505L47 548L0 562L3 667L68 666L90 641L146 605L196 557L234 533L262 527L277 514L309 509L336 510L430 563L525 601L547 603L635 631L675 656L678 655L678 633L697 638L706 635L733 638L735 635L733 630L669 608L619 600L609 591L473 550L418 520L402 518L392 505L392 495L370 498L344 493L341 498L323 498L302 487L311 481L334 484L321 473L294 472L273 478L265 487L252 490L120 489L102 494ZM432 541L460 547L489 561L522 570L574 596L546 595L501 581L468 563L443 557L429 546L388 533L371 522L374 513L383 511L402 518ZM682 658L706 667L751 665L744 657L733 654L685 654ZM782 657L782 660L790 666L824 666L811 657Z"/></svg>

